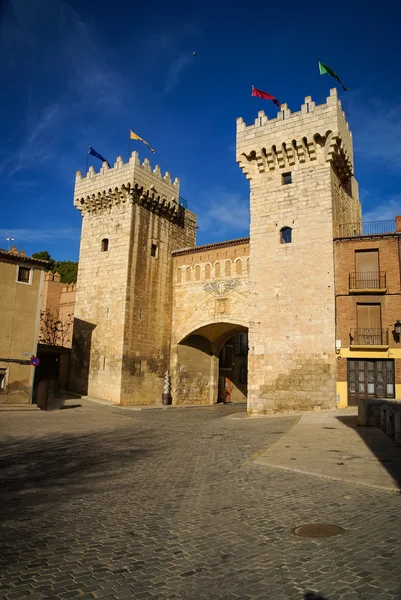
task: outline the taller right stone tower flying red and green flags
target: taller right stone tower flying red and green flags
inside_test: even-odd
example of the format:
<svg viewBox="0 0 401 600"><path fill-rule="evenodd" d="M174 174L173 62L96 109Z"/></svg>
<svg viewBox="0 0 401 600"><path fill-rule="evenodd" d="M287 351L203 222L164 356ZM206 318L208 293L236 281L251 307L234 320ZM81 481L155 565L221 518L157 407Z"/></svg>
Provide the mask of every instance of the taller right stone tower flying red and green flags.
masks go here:
<svg viewBox="0 0 401 600"><path fill-rule="evenodd" d="M250 182L248 411L335 407L333 237L361 221L337 90L237 119L237 161Z"/></svg>

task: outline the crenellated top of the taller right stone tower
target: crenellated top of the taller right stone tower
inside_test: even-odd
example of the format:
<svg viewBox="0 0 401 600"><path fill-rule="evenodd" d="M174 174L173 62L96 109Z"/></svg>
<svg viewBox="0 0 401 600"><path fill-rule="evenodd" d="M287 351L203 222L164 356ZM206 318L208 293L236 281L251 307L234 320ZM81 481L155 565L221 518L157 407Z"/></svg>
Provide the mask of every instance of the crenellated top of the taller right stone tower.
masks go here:
<svg viewBox="0 0 401 600"><path fill-rule="evenodd" d="M298 112L282 104L274 119L263 110L252 125L237 119L237 162L247 179L316 160L331 162L344 181L353 175L352 134L336 88L324 104L306 96Z"/></svg>

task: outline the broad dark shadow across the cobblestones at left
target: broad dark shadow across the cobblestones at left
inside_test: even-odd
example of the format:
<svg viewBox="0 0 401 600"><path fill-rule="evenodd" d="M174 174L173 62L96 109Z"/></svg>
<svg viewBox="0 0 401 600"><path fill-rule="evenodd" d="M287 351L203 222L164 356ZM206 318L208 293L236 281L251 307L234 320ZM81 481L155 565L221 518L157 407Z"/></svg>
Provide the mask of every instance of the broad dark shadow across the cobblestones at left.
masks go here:
<svg viewBox="0 0 401 600"><path fill-rule="evenodd" d="M115 436L114 429L1 441L0 518L103 490L109 478L156 450L144 433L120 429L118 444Z"/></svg>

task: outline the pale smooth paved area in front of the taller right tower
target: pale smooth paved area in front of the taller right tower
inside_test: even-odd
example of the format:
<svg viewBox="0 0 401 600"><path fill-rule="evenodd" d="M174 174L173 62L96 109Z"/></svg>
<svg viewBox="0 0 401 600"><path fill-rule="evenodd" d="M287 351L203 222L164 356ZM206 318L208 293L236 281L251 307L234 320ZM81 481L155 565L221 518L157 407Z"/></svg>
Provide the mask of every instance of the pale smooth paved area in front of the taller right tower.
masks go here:
<svg viewBox="0 0 401 600"><path fill-rule="evenodd" d="M359 427L356 415L353 408L306 413L255 462L399 491L401 448L380 429Z"/></svg>

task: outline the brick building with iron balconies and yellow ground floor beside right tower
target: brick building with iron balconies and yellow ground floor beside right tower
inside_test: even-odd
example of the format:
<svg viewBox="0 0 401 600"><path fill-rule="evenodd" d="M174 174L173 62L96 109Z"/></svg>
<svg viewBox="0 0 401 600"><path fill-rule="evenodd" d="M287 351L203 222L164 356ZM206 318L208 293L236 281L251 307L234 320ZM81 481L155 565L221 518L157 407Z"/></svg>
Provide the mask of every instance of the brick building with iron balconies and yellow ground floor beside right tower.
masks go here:
<svg viewBox="0 0 401 600"><path fill-rule="evenodd" d="M401 218L351 225L334 240L339 407L401 398Z"/></svg>

